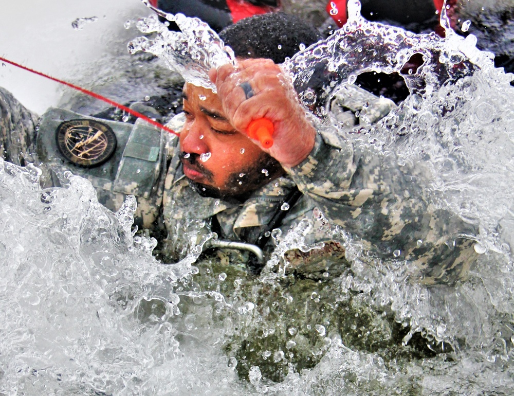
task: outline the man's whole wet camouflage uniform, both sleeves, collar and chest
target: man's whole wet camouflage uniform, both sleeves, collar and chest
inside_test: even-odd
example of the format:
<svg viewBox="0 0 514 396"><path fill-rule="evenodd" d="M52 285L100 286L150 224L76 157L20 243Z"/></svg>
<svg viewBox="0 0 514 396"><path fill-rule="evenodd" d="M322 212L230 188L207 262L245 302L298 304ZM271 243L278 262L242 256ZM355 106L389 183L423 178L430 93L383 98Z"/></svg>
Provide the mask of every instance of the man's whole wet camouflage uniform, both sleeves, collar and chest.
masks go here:
<svg viewBox="0 0 514 396"><path fill-rule="evenodd" d="M6 158L16 159L18 150L21 157L30 160L34 116L5 91L0 90L0 94L0 133ZM394 104L348 87L336 94L331 106L333 122L351 127L357 121L356 111L363 114L359 122L369 124L387 114ZM71 170L88 178L98 191L99 201L112 210L119 208L127 194L136 195L138 222L149 227L163 220L166 225L168 238L163 250L168 256L185 256L201 236L211 231L214 217L221 228L220 238L254 243L295 186L303 195L286 209L279 226L283 236L303 219L314 224L317 207L376 255L408 260L431 283L461 278L474 254L472 242L458 237L470 235L473 230L451 219L448 213L436 211L411 182L413 176L422 175L417 175L415 169L400 169L395 158L373 154L358 140L350 144L334 128L319 127L315 148L300 165L286 169L287 176L271 181L246 202L237 204L201 197L193 191L180 165L178 139L140 120L134 125L102 120L112 124L118 138L112 163L109 159L96 168L70 164L54 147L55 130L64 120L75 118L93 117L50 109L40 120L34 162L44 168L43 184L59 185L59 174ZM341 241L333 239L331 229L314 227L304 244L320 241L326 242L322 248L301 249L307 253L289 251L285 260L296 271L337 273L337 267L344 264ZM271 239L265 250L270 253L273 248Z"/></svg>

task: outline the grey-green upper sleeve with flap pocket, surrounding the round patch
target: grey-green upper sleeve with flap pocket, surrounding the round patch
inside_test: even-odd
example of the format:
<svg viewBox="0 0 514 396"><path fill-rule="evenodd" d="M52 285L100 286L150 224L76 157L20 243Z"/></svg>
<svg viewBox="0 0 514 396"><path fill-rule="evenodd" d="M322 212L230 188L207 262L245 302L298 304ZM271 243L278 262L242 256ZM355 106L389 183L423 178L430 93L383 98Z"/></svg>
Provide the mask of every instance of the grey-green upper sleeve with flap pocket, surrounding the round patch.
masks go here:
<svg viewBox="0 0 514 396"><path fill-rule="evenodd" d="M51 149L57 125L63 119L77 118L95 119L62 109L49 109L41 117L36 165L43 170L42 186L52 187L66 183L62 174L70 170L88 179L97 191L98 201L112 211L117 211L128 195L136 196L134 223L138 227L159 228L159 211L166 174L164 169L167 166L165 147L169 133L151 127L142 120L137 120L134 124L99 120L117 131L117 152L113 155L113 160L109 159L99 167L82 168L63 160L56 153L56 148ZM121 129L124 130L123 133L120 133ZM160 157L156 155L157 152Z"/></svg>

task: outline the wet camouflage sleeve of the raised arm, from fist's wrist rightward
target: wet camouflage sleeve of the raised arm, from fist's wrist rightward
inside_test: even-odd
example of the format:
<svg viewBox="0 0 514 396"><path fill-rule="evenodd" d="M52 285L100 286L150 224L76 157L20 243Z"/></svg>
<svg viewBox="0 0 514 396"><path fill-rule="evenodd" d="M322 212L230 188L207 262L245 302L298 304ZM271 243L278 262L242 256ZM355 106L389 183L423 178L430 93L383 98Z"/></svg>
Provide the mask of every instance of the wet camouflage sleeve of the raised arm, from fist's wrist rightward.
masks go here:
<svg viewBox="0 0 514 396"><path fill-rule="evenodd" d="M287 172L333 224L380 257L415 263L431 283L462 277L469 264L462 250L468 255L472 246L463 236L474 227L433 206L422 168L401 167L393 153L373 150L366 140L322 127L310 155Z"/></svg>

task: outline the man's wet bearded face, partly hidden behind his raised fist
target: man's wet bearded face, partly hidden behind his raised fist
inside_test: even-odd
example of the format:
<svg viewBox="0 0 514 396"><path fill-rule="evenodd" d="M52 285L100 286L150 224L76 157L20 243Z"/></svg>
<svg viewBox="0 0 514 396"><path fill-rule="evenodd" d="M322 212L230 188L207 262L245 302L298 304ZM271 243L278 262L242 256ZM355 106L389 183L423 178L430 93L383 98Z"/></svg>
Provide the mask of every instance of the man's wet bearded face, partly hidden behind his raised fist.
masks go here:
<svg viewBox="0 0 514 396"><path fill-rule="evenodd" d="M283 173L274 158L234 129L210 89L186 83L183 100L180 157L200 195L243 197Z"/></svg>

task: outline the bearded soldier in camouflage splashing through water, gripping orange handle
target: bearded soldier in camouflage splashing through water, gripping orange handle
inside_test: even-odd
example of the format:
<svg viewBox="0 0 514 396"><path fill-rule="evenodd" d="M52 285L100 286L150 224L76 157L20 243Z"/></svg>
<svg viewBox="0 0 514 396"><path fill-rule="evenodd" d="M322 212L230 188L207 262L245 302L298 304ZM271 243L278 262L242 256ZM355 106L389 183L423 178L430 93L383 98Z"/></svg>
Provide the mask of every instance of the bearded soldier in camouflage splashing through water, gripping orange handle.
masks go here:
<svg viewBox="0 0 514 396"><path fill-rule="evenodd" d="M470 226L434 209L411 182L412 170L398 167L393 156L354 146L300 105L278 64L300 45L318 41L315 29L296 17L271 13L229 26L221 38L234 49L237 65L211 70L216 94L183 85L179 138L142 120L132 125L62 109L50 109L38 120L1 90L4 158L42 167L45 187L59 186L64 170L82 175L112 210L126 195L135 195L137 222L165 227L162 249L175 259L211 231L268 255L274 248L272 230L286 235L301 222L314 224L319 208L377 257L413 263L425 282L465 276L473 242L458 236L469 235ZM330 107L348 124L359 102L366 105L368 117L361 121L367 123L394 107L358 87L347 88ZM273 124L271 148L245 132L260 118ZM337 274L344 248L332 240L329 228L315 228L305 245L321 245L307 253L295 249L285 261L291 271Z"/></svg>

